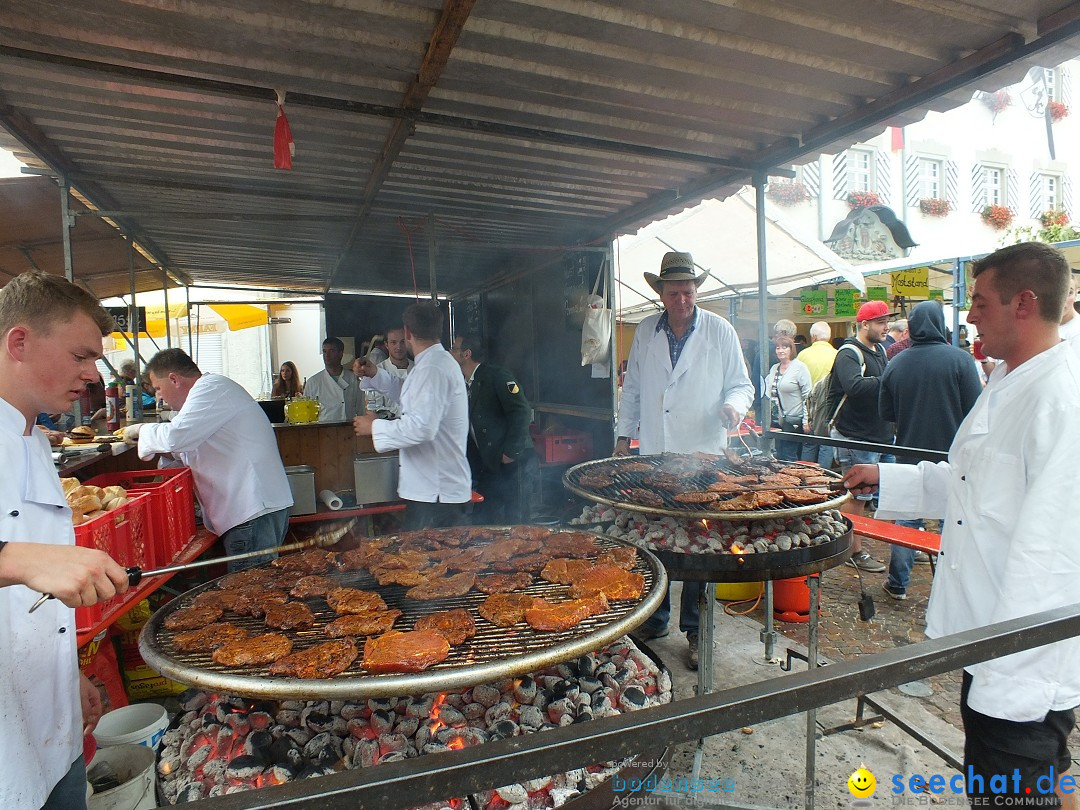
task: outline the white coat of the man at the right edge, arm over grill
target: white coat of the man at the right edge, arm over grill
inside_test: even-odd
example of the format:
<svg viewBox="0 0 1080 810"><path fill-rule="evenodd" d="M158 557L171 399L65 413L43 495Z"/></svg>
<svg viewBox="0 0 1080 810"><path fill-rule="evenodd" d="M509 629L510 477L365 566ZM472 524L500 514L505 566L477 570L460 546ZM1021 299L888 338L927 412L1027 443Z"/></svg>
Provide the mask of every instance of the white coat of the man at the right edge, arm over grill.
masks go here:
<svg viewBox="0 0 1080 810"><path fill-rule="evenodd" d="M1080 356L1063 342L999 365L960 426L948 462L880 467L877 517L944 514L927 608L939 637L1072 605L1080 581ZM1080 705L1080 638L967 667L972 708L1041 720Z"/></svg>

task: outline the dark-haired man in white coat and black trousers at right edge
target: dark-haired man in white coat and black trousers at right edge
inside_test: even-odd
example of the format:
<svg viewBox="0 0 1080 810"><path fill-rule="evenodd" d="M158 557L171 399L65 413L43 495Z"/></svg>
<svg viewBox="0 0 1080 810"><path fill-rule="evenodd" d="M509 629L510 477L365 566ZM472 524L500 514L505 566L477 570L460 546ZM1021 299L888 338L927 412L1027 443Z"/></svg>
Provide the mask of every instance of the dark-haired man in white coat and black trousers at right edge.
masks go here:
<svg viewBox="0 0 1080 810"><path fill-rule="evenodd" d="M878 517L945 515L927 608L931 637L1072 605L1080 580L1069 497L1080 487L1080 356L1058 336L1068 264L1049 245L1027 242L975 261L972 272L968 323L1001 363L949 460L858 465L845 477L851 489L879 486ZM1074 637L966 667L969 796L990 793L1000 774L1025 804L1057 806L1045 788L1051 772L1059 787L1069 767L1078 664Z"/></svg>

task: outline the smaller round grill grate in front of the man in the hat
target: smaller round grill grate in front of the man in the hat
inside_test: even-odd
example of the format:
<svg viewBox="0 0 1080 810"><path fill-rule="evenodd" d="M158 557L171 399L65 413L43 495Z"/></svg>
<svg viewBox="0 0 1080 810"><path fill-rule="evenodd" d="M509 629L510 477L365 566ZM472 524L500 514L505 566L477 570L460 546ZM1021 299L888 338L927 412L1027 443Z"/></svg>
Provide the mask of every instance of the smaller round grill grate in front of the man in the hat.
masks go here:
<svg viewBox="0 0 1080 810"><path fill-rule="evenodd" d="M648 470L634 469L642 464L648 464ZM681 491L696 489L706 489L710 484L716 482L716 473L723 472L730 475L742 475L746 473L772 473L783 467L794 467L796 462L779 461L755 461L747 462L739 467L730 464L720 458L708 461L696 461L691 456L619 456L613 458L598 459L596 461L585 461L584 463L571 467L563 475L564 486L577 496L597 503L607 503L618 509L625 509L632 512L646 512L653 515L669 515L671 517L683 518L704 518L716 521L764 521L770 517L797 517L800 515L823 512L826 509L836 509L847 501L851 496L846 491L829 494L829 497L809 504L797 504L784 501L779 507L761 507L748 511L723 511L711 509L713 504L683 503L675 500L674 492L649 483L649 477L657 474L670 474L679 480ZM631 469L626 469L631 468ZM592 472L607 473L611 477L611 484L607 486L589 486L581 482L582 475ZM829 470L821 470L822 475L840 482L840 476ZM821 485L822 488L825 485ZM782 487L770 488L767 485L747 484L747 491L755 489L781 489ZM783 487L795 489L800 487ZM653 496L662 500L659 504L646 504L633 499L634 489L649 490Z"/></svg>

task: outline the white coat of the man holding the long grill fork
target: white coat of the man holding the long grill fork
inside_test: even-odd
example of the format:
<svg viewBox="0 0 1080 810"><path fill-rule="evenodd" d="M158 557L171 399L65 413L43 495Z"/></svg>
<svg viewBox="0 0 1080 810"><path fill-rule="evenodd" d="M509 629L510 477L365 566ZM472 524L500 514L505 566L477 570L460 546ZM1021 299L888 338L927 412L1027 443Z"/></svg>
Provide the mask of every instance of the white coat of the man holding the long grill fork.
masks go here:
<svg viewBox="0 0 1080 810"><path fill-rule="evenodd" d="M0 539L75 545L49 440L0 400ZM0 808L37 810L82 755L75 610L40 593L0 588Z"/></svg>

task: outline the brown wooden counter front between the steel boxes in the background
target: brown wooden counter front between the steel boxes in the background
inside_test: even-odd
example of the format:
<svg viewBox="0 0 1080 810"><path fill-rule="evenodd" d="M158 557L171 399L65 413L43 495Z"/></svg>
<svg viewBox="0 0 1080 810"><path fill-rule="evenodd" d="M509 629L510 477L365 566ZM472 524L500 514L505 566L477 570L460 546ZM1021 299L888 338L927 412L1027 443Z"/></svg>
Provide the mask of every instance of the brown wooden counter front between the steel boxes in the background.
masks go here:
<svg viewBox="0 0 1080 810"><path fill-rule="evenodd" d="M360 437L352 422L274 424L278 449L285 467L308 464L315 471L315 492L353 488L352 459L375 453L370 436Z"/></svg>

